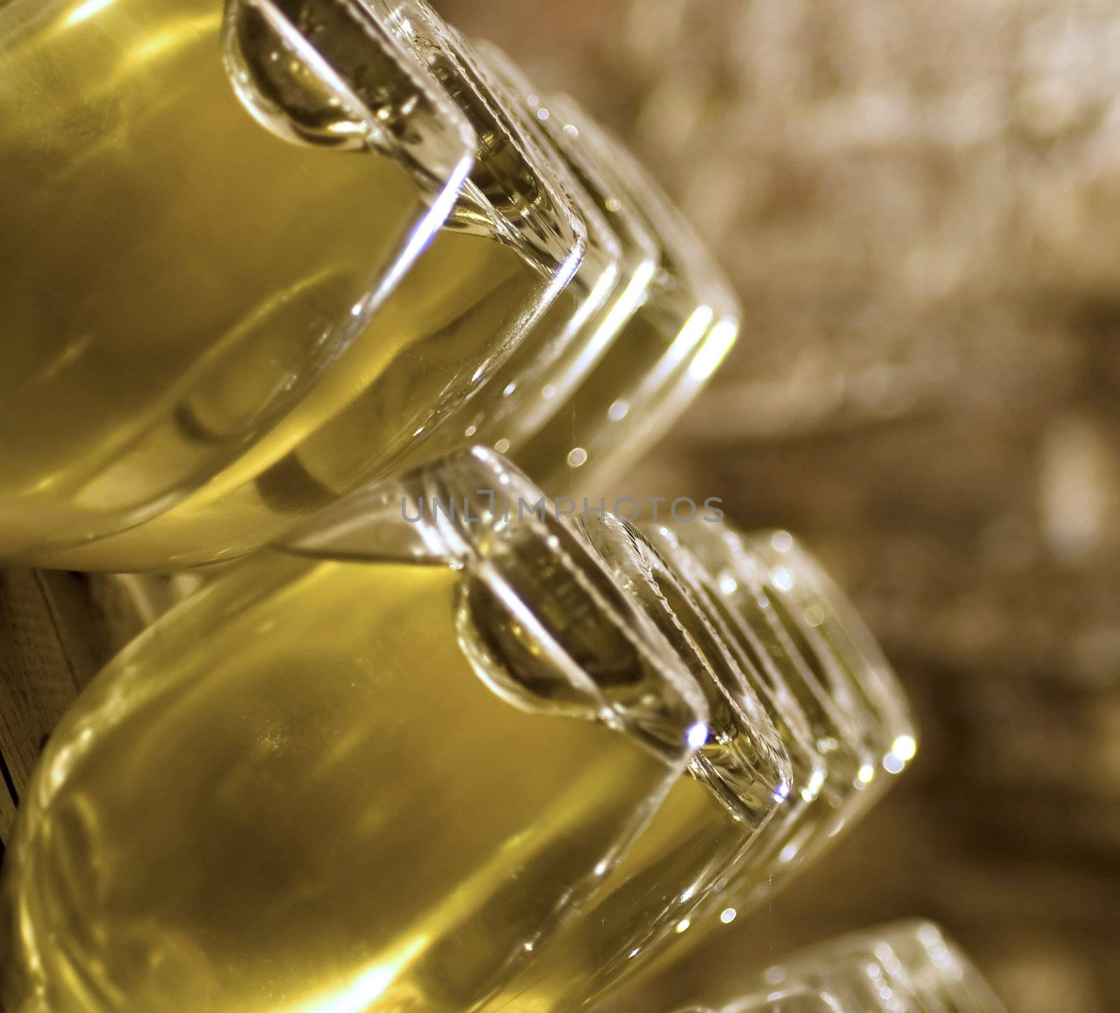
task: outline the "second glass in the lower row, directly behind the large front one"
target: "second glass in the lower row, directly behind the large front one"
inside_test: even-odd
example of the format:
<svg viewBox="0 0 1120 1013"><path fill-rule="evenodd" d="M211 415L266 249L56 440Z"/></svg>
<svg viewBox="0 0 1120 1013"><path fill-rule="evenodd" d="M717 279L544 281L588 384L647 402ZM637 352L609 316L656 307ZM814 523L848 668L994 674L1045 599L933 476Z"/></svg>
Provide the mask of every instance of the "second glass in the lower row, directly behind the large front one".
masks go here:
<svg viewBox="0 0 1120 1013"><path fill-rule="evenodd" d="M718 612L691 575L617 518L585 530L619 579L645 575L637 588L645 613L704 691L710 736L692 760L692 777L673 787L582 917L483 1007L495 1013L582 1009L671 955L732 876L765 875L757 842L785 811L800 773L800 760L791 762ZM783 726L790 719L783 714Z"/></svg>

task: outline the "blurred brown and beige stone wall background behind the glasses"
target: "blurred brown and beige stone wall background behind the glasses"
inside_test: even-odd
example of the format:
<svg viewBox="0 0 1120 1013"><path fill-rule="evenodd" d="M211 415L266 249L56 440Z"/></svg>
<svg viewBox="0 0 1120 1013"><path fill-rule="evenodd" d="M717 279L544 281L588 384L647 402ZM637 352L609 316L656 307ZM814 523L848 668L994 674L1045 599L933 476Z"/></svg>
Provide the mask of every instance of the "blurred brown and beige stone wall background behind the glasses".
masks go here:
<svg viewBox="0 0 1120 1013"><path fill-rule="evenodd" d="M626 492L803 535L925 733L831 862L613 1009L926 914L1019 1013L1120 1010L1120 6L437 6L622 132L743 295Z"/></svg>

